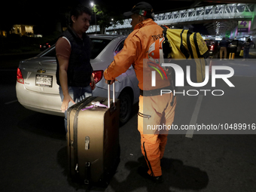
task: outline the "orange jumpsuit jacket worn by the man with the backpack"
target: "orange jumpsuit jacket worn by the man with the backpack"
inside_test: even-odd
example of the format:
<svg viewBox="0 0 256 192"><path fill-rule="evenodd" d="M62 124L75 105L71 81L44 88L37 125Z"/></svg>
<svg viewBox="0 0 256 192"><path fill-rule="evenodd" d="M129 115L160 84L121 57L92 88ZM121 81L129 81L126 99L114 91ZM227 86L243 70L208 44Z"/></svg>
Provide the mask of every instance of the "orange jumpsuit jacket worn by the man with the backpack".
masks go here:
<svg viewBox="0 0 256 192"><path fill-rule="evenodd" d="M143 65L143 59L148 59L148 49L158 38L163 38L163 29L152 19L137 24L133 32L124 41L123 49L114 56L114 61L105 70L105 79L113 80L133 65L141 90L168 87L169 81L166 78L162 79L158 73L156 77L157 87L151 87L151 76L144 77L144 81L149 83L143 84L143 70L144 72L148 70L148 75L151 75L150 71L154 70L148 67L147 63Z"/></svg>

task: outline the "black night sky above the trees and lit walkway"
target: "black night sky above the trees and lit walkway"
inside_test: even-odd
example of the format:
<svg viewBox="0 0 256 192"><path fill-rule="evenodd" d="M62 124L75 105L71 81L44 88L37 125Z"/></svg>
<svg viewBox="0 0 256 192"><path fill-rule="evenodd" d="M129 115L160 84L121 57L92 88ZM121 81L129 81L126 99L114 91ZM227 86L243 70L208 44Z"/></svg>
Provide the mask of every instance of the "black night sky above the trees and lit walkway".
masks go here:
<svg viewBox="0 0 256 192"><path fill-rule="evenodd" d="M101 5L116 15L123 15L123 12L130 11L138 0L120 1L120 0L44 0L36 2L32 0L23 1L5 1L0 11L0 28L3 26L13 26L14 24L29 24L37 26L38 30L54 27L56 21L63 20L65 12L70 11L72 5L81 2L90 7L90 2ZM183 8L189 8L194 2L161 0L146 1L154 8L154 13L164 11L175 11ZM93 19L93 18L92 18ZM93 21L92 21L93 22ZM35 27L36 30L36 27Z"/></svg>

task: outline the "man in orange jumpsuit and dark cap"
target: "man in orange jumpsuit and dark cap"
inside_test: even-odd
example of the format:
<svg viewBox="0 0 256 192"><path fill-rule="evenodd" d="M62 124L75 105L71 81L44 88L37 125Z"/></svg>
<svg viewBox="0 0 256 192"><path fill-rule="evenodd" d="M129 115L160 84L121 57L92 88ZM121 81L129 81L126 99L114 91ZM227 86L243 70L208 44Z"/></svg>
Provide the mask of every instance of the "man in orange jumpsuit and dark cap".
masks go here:
<svg viewBox="0 0 256 192"><path fill-rule="evenodd" d="M141 134L142 154L148 168L139 167L140 175L154 182L163 182L160 160L163 158L167 142L167 131L159 132L148 129L152 125L172 125L176 100L172 93L161 95L160 90L170 90L169 80L156 75L156 87L151 87L151 71L145 59L148 49L158 38L163 38L163 29L154 22L153 8L146 2L135 5L130 12L123 14L132 17L133 32L126 38L123 50L114 56L114 61L104 72L106 80L114 81L133 65L139 80L141 95L139 96L138 130ZM163 88L164 87L164 88Z"/></svg>

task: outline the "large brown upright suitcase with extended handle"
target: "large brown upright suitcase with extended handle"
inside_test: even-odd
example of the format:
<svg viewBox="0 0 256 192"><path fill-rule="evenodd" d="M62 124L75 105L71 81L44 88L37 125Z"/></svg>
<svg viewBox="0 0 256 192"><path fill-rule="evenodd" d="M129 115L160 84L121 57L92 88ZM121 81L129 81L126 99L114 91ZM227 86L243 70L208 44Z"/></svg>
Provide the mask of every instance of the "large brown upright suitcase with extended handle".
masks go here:
<svg viewBox="0 0 256 192"><path fill-rule="evenodd" d="M106 187L120 162L118 99L90 96L68 109L69 175ZM108 107L105 107L108 105Z"/></svg>

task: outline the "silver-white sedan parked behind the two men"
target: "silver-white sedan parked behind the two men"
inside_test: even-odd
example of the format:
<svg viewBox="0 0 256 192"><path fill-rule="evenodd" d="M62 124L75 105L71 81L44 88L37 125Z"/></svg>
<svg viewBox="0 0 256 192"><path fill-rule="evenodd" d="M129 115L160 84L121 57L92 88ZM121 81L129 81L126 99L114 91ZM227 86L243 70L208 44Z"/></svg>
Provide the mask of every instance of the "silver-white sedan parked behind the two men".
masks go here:
<svg viewBox="0 0 256 192"><path fill-rule="evenodd" d="M92 55L96 88L93 96L107 97L107 84L103 72L108 68L122 48L126 36L89 35L92 40ZM60 107L59 85L56 84L55 46L44 50L38 56L20 61L17 69L17 99L21 105L33 111L64 116ZM117 77L116 98L120 99L120 123L129 120L132 106L139 101L139 87L133 66Z"/></svg>

